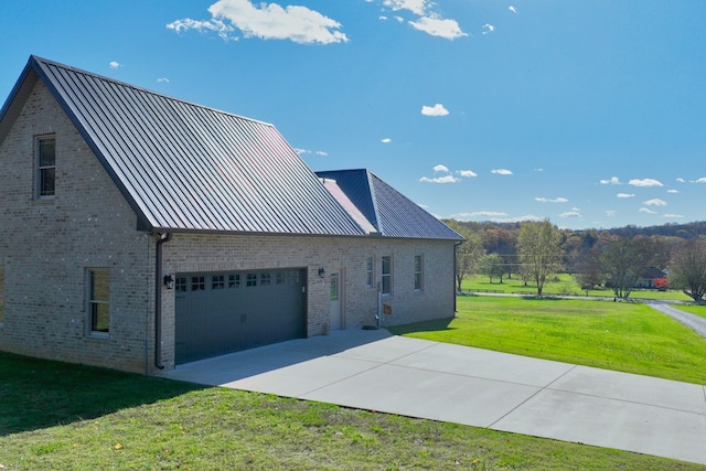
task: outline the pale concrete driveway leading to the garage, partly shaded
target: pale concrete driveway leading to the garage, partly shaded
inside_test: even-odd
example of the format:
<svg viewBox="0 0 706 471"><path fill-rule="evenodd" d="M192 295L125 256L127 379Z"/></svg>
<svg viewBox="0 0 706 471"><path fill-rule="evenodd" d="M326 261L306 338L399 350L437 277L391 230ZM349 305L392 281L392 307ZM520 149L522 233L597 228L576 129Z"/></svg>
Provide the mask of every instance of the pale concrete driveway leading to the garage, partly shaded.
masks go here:
<svg viewBox="0 0 706 471"><path fill-rule="evenodd" d="M706 464L706 386L336 331L163 376Z"/></svg>

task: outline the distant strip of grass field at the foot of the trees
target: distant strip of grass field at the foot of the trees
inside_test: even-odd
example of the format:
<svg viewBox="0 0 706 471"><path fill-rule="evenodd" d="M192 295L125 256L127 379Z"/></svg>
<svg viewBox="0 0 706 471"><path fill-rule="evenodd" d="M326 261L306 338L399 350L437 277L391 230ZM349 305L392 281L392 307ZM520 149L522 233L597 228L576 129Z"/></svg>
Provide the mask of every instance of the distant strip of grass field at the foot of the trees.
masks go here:
<svg viewBox="0 0 706 471"><path fill-rule="evenodd" d="M601 298L612 298L613 291L611 289L591 289L582 290L580 285L571 275L561 274L557 275L556 281L553 280L544 286L544 293L546 295L566 295L566 296L590 296ZM532 283L525 286L524 281L515 276L514 278L504 278L501 283L498 278L493 278L493 282L490 282L486 276L472 275L463 279L461 285L463 291L502 291L505 293L525 292L536 293L537 288ZM630 298L637 299L657 299L657 300L677 300L677 301L692 301L692 298L684 295L680 290L659 291L655 289L640 289L630 293Z"/></svg>

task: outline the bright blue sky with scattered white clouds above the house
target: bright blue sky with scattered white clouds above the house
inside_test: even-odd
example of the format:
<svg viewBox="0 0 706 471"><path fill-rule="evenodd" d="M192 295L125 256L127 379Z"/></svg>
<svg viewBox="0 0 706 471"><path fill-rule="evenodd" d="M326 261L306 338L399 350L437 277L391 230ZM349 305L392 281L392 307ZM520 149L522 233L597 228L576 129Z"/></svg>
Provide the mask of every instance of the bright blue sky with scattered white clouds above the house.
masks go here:
<svg viewBox="0 0 706 471"><path fill-rule="evenodd" d="M706 1L2 0L30 54L272 122L439 217L706 220Z"/></svg>

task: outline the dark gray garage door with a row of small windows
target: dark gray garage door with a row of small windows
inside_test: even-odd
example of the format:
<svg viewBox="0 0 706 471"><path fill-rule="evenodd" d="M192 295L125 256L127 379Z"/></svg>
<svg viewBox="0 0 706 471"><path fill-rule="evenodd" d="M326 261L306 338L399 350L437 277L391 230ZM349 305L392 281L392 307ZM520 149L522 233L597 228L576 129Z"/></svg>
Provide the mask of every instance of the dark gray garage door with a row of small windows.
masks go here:
<svg viewBox="0 0 706 471"><path fill-rule="evenodd" d="M306 335L306 271L176 276L176 363Z"/></svg>

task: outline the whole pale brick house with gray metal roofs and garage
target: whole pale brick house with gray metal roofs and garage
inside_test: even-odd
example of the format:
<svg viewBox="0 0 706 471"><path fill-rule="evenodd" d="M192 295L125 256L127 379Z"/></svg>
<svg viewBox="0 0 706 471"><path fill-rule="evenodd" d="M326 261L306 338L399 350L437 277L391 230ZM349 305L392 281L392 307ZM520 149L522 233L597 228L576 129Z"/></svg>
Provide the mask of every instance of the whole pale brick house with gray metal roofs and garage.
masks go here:
<svg viewBox="0 0 706 471"><path fill-rule="evenodd" d="M3 351L152 374L454 312L462 238L268 124L31 56L0 170Z"/></svg>

